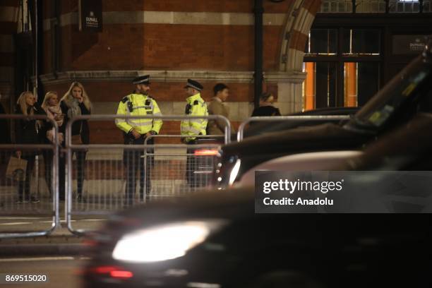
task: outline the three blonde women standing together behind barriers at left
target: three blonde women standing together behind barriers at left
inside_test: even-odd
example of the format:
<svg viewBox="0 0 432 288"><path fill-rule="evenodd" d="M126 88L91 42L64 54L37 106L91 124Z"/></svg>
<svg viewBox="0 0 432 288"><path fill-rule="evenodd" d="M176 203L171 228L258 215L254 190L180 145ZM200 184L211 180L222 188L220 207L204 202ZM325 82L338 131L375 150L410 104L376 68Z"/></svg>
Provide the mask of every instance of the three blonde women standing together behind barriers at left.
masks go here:
<svg viewBox="0 0 432 288"><path fill-rule="evenodd" d="M36 144L36 143L54 143L54 124L59 127L59 143L64 146L64 133L66 124L73 116L90 114L92 104L83 85L73 82L69 90L59 100L56 92L47 92L42 105L38 104L35 95L30 91L21 93L16 104L16 114L22 115L45 115L52 121L41 121L37 119L25 118L20 119L15 125L15 135L17 144ZM90 130L88 121L76 121L72 126L72 136L82 139L83 143L89 143ZM38 203L36 196L30 195L30 181L32 171L35 167L35 156L39 154L37 150L17 150L16 156L27 161L25 176L18 181L18 200L17 203ZM47 186L52 193L52 159L53 152L44 150L44 168ZM78 161L78 200L83 198L83 181L85 174L85 151L77 151L76 158ZM65 198L64 174L66 162L64 157L59 158L59 197L60 200Z"/></svg>

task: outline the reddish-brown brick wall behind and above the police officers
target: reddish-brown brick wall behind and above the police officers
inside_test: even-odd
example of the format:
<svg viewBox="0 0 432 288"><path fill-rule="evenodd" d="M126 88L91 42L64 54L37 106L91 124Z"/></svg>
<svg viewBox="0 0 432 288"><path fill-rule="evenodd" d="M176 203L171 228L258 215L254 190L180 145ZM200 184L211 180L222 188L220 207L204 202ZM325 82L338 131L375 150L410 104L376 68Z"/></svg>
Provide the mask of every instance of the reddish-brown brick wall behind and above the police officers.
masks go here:
<svg viewBox="0 0 432 288"><path fill-rule="evenodd" d="M282 40L297 2L301 1L280 4L264 1L263 68L266 73L280 71ZM307 4L313 9L314 2L316 0L304 1L301 5ZM47 3L52 6L52 1ZM102 3L103 32L89 33L78 31L78 0L61 2L60 66L61 71L69 71L72 76L60 81L52 76L52 80L44 83L46 91L56 90L62 95L74 80L73 71L191 71L191 78L194 78L193 71L227 71L232 75L237 71L253 71L253 0L104 0ZM45 7L46 23L52 16L52 7ZM44 32L46 48L42 74L52 73L51 33L48 25ZM296 40L290 42L289 47L304 42L303 34L297 33L294 37ZM119 102L133 90L132 78L79 80L98 107L103 103L114 107L113 102ZM252 78L238 81L233 78L200 80L205 86L203 98L209 101L213 85L227 80L232 92L229 101L238 102L237 109L246 107L247 110L248 103L253 101ZM153 81L151 94L158 102L184 102L185 80ZM264 90L277 97L279 86L275 82L265 83ZM243 108L238 108L240 106ZM249 114L248 111L241 112L244 118ZM235 121L238 122L239 117ZM93 125L95 131L105 137L92 136L92 141L116 143L121 140L121 133L114 126ZM166 122L163 131L178 133L177 126Z"/></svg>

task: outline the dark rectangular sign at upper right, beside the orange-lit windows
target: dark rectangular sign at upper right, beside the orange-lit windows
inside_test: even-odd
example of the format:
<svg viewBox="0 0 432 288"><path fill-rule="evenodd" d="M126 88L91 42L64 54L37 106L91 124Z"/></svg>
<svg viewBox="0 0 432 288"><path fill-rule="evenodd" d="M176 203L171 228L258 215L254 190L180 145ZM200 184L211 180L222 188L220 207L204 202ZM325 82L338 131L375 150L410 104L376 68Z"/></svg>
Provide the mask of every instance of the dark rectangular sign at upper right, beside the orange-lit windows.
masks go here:
<svg viewBox="0 0 432 288"><path fill-rule="evenodd" d="M426 37L431 35L393 35L392 54L419 54L424 50Z"/></svg>

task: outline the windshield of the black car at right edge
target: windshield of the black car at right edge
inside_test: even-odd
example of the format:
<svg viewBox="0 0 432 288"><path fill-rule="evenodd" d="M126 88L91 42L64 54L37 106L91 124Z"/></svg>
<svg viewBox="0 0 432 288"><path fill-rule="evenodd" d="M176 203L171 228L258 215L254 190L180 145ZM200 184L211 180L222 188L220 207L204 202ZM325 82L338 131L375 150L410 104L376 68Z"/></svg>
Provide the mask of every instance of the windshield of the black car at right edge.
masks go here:
<svg viewBox="0 0 432 288"><path fill-rule="evenodd" d="M431 65L417 57L355 114L350 124L375 130L383 126L403 103L415 97L431 76Z"/></svg>

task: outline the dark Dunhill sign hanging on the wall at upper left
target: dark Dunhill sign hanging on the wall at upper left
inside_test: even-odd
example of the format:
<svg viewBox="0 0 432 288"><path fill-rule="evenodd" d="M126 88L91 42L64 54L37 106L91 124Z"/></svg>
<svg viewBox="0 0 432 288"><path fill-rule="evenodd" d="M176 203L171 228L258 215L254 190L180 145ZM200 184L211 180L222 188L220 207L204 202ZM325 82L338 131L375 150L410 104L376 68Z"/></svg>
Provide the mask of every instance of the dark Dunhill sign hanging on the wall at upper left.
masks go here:
<svg viewBox="0 0 432 288"><path fill-rule="evenodd" d="M80 31L102 32L102 0L79 0Z"/></svg>

